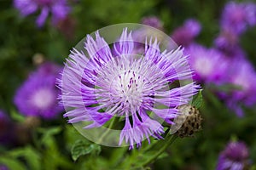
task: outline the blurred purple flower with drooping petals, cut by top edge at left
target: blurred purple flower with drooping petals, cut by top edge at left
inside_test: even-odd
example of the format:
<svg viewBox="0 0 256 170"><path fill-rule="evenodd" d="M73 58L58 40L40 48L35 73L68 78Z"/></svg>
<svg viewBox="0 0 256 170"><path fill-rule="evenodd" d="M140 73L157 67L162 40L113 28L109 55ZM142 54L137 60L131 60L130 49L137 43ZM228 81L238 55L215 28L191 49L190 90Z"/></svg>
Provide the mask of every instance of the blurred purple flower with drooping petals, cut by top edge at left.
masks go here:
<svg viewBox="0 0 256 170"><path fill-rule="evenodd" d="M36 21L39 27L44 26L49 14L52 15L55 25L58 21L65 19L70 12L66 0L15 0L14 5L20 10L22 16L36 13L39 10L40 14Z"/></svg>

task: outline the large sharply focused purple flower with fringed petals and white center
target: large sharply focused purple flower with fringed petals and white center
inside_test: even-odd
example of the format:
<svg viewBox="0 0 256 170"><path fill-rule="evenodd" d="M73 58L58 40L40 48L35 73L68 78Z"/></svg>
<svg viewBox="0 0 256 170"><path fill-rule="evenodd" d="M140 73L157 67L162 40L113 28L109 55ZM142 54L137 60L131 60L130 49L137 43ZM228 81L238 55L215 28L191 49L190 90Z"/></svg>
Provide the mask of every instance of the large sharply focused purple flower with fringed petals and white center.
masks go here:
<svg viewBox="0 0 256 170"><path fill-rule="evenodd" d="M177 106L187 104L200 88L192 82L169 89L170 83L192 73L183 49L160 52L159 42L150 40L144 54L133 54L134 41L127 29L113 44L114 53L99 32L96 39L86 37L84 49L85 54L73 49L59 82L61 103L70 108L64 116L70 123L90 122L84 128L102 127L120 116L125 126L119 144L125 140L130 149L150 136L160 139L160 119L172 124Z"/></svg>

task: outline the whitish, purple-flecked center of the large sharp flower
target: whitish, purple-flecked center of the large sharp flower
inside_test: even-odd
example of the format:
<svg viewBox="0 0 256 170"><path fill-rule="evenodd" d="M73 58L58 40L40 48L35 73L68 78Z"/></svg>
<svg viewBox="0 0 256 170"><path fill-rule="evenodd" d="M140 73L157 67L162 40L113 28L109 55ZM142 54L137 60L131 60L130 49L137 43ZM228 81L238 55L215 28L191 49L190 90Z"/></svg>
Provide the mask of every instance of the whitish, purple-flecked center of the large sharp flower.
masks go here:
<svg viewBox="0 0 256 170"><path fill-rule="evenodd" d="M154 91L163 85L160 80L164 80L151 61L129 57L109 61L98 77L96 91L101 96L104 94L98 99L99 103L116 109L121 115L153 105Z"/></svg>

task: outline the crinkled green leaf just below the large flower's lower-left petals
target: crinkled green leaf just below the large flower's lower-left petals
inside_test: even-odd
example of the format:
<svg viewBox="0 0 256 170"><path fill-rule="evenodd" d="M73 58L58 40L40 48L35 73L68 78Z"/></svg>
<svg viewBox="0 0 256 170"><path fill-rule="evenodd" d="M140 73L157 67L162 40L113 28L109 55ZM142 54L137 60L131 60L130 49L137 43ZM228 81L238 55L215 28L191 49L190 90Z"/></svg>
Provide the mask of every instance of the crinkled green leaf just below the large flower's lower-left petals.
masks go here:
<svg viewBox="0 0 256 170"><path fill-rule="evenodd" d="M88 154L96 154L99 155L102 148L98 144L90 144L86 140L77 140L75 144L73 144L71 154L73 161L77 161L79 156L85 156Z"/></svg>

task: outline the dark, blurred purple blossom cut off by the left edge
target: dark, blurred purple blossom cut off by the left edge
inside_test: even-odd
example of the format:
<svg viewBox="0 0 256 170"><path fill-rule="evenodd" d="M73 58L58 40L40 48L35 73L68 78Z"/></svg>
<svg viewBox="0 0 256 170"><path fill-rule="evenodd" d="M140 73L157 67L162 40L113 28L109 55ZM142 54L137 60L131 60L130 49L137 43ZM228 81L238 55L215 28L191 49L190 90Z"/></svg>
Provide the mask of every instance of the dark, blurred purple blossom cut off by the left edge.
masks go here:
<svg viewBox="0 0 256 170"><path fill-rule="evenodd" d="M9 116L0 111L0 144L11 144L13 139L13 123Z"/></svg>

